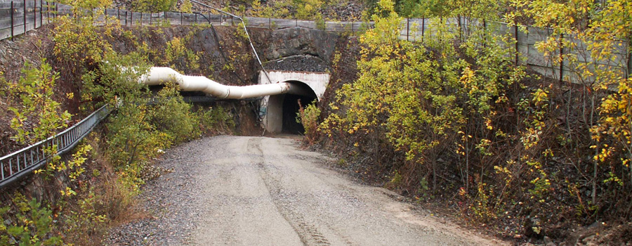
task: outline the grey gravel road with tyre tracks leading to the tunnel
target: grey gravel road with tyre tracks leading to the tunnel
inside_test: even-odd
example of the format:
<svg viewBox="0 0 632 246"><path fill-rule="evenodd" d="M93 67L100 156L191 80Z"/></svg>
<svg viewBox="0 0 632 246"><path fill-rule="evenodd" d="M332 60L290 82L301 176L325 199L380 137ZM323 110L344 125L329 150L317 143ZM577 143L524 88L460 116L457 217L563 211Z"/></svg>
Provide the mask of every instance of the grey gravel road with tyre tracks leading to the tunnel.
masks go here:
<svg viewBox="0 0 632 246"><path fill-rule="evenodd" d="M141 195L152 215L106 245L502 245L331 169L288 138L216 136L169 150Z"/></svg>

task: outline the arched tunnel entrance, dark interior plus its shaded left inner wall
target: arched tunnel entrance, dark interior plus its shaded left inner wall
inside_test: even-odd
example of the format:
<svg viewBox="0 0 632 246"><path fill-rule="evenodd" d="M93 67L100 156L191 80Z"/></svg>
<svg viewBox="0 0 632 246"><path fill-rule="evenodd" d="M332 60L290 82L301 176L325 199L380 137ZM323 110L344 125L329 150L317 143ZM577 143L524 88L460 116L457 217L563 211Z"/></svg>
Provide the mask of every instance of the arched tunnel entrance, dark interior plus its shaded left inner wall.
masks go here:
<svg viewBox="0 0 632 246"><path fill-rule="evenodd" d="M303 107L307 107L307 105L317 101L317 96L303 82L289 81L289 83L303 87L301 91L308 91L308 93L302 93L301 95L288 93L270 96L268 99L266 128L268 131L276 133L303 134L305 132L303 124L296 122L296 116L300 108L298 101L301 101Z"/></svg>

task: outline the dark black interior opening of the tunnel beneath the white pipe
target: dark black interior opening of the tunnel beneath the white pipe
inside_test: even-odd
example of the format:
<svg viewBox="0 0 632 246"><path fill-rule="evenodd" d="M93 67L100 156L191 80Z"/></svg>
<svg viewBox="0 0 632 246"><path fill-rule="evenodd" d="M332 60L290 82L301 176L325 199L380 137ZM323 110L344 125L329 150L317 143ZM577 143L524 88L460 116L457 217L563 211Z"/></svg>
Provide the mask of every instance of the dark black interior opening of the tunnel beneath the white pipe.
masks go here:
<svg viewBox="0 0 632 246"><path fill-rule="evenodd" d="M305 128L303 127L303 124L296 122L296 117L300 109L300 106L298 105L298 101L301 101L301 105L303 105L303 108L305 108L312 103L316 103L317 96L316 96L316 93L314 93L314 91L312 91L312 89L310 89L310 87L307 84L303 84L303 82L291 82L291 83L304 87L305 91L310 91L310 94L309 95L286 94L284 96L282 133L303 134L305 132Z"/></svg>

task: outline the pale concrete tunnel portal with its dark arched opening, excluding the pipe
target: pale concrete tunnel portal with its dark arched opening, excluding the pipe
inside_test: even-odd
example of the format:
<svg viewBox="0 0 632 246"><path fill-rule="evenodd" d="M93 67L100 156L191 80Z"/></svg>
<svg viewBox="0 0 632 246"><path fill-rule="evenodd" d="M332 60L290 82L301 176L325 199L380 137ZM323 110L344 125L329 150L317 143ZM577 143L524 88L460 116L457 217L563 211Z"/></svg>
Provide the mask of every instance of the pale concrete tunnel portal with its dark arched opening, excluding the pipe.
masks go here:
<svg viewBox="0 0 632 246"><path fill-rule="evenodd" d="M268 80L268 77L270 79ZM287 82L302 87L307 93L284 93L264 96L261 100L259 115L265 131L271 133L303 134L303 125L296 122L299 110L298 101L306 107L318 103L329 84L329 74L324 72L263 71L259 73L259 84Z"/></svg>

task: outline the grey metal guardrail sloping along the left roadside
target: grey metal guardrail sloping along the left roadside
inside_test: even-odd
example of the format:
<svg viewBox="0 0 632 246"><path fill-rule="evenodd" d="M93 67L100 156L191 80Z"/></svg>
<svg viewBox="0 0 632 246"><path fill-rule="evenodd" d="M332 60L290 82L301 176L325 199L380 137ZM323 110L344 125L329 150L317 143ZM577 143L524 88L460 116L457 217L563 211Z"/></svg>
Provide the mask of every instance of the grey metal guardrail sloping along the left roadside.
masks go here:
<svg viewBox="0 0 632 246"><path fill-rule="evenodd" d="M44 141L30 145L4 157L0 157L0 188L20 180L23 176L44 166L51 160L47 150L56 146L55 155L62 155L72 150L81 139L87 136L99 122L110 115L112 108L104 105L81 122L52 136Z"/></svg>

